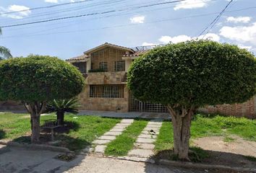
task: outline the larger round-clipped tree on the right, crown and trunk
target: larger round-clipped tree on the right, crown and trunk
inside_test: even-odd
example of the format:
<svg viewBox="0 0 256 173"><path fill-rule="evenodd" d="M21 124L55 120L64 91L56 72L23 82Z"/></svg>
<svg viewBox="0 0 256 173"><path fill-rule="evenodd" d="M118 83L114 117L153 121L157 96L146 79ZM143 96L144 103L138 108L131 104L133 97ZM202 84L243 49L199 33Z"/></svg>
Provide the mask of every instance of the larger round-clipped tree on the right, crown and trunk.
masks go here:
<svg viewBox="0 0 256 173"><path fill-rule="evenodd" d="M195 110L251 98L256 62L236 45L192 40L150 50L132 63L127 80L137 99L166 105L174 127L174 154L189 160Z"/></svg>

